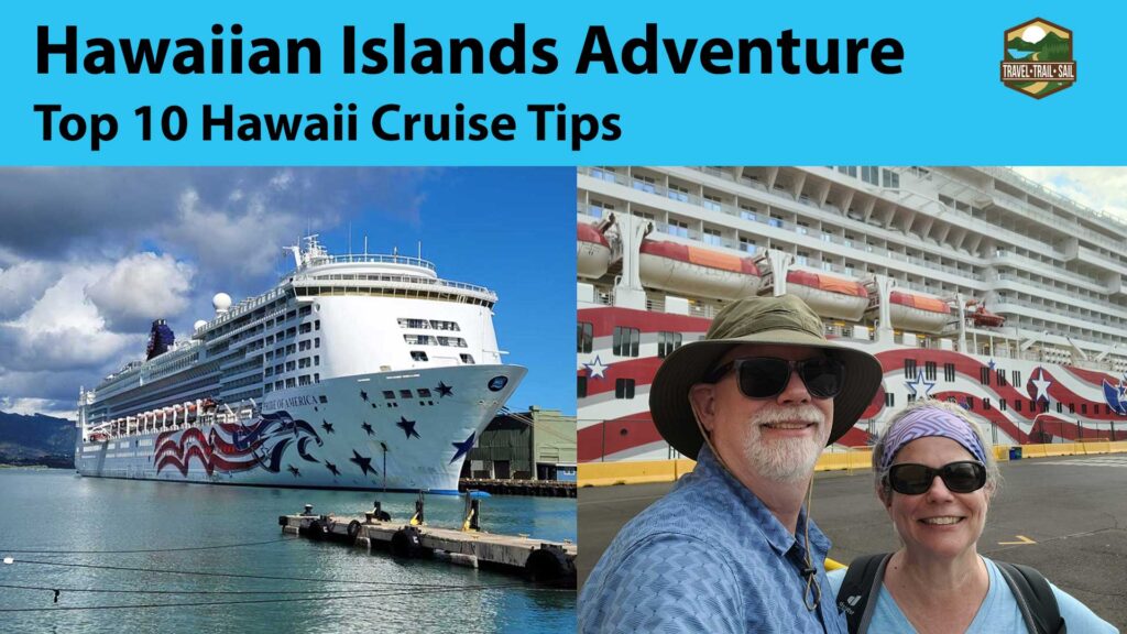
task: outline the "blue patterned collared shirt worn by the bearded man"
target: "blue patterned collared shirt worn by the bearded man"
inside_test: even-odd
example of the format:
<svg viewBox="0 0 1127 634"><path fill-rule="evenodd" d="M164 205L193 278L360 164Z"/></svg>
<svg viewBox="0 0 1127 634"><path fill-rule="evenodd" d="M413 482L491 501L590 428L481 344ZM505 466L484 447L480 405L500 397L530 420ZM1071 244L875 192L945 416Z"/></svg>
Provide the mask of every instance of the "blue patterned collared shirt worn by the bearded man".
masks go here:
<svg viewBox="0 0 1127 634"><path fill-rule="evenodd" d="M822 600L804 604L805 522L804 509L796 539L706 446L693 473L603 553L579 598L579 632L845 634L824 567L829 539L814 522Z"/></svg>

